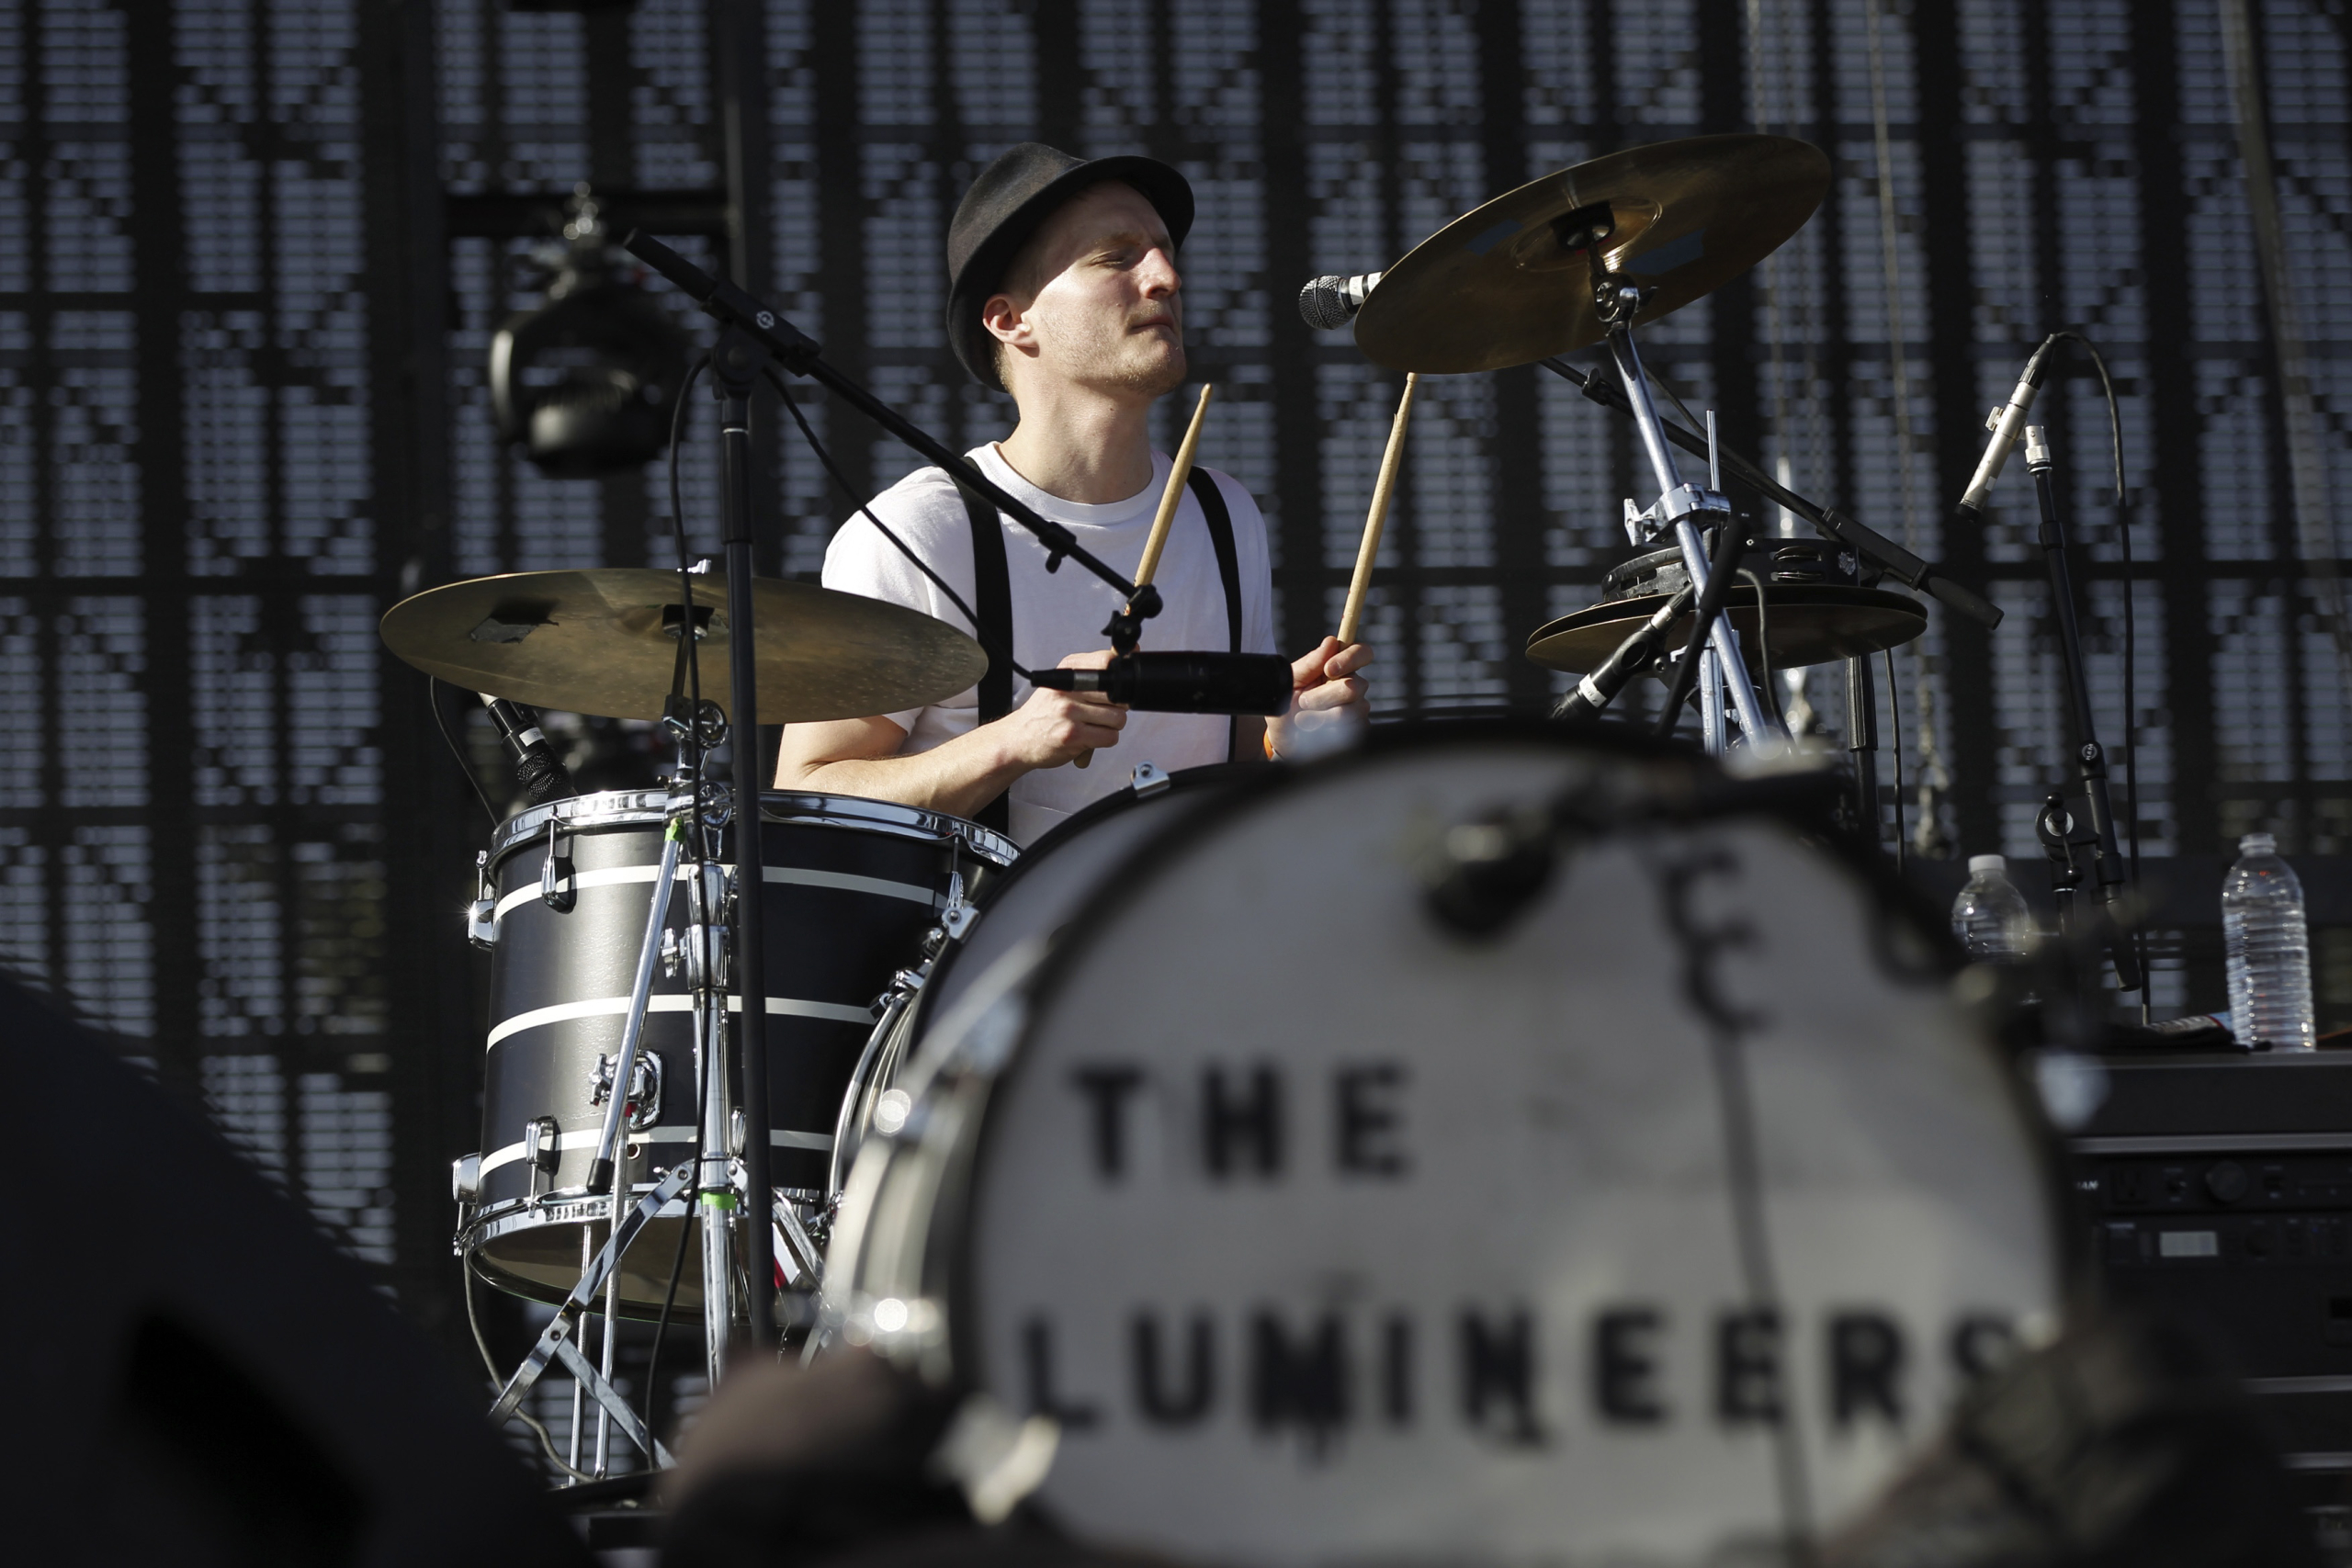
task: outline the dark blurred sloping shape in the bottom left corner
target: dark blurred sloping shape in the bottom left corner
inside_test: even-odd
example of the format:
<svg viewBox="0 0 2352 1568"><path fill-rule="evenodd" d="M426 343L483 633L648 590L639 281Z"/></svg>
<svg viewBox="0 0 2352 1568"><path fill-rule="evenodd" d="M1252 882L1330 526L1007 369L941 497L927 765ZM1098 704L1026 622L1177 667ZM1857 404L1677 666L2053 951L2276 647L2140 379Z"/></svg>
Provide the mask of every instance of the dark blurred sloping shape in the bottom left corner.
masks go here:
<svg viewBox="0 0 2352 1568"><path fill-rule="evenodd" d="M9 1220L12 1561L588 1563L452 1371L195 1112L14 980L0 1063L56 1112L19 1131L26 1171L73 1182Z"/></svg>

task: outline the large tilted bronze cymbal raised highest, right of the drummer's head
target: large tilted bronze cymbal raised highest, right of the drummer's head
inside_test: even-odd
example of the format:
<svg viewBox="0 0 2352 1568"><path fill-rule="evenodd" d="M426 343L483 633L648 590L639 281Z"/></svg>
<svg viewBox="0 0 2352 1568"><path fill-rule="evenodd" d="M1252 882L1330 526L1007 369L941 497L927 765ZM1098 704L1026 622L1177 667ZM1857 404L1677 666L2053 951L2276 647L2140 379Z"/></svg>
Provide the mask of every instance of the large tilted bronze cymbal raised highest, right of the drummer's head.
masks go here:
<svg viewBox="0 0 2352 1568"><path fill-rule="evenodd" d="M1776 252L1820 207L1830 160L1788 136L1689 136L1609 153L1454 219L1381 275L1355 317L1374 364L1463 374L1599 343L1590 252L1566 237L1606 205L1599 242L1653 322ZM1573 223L1564 223L1578 214Z"/></svg>

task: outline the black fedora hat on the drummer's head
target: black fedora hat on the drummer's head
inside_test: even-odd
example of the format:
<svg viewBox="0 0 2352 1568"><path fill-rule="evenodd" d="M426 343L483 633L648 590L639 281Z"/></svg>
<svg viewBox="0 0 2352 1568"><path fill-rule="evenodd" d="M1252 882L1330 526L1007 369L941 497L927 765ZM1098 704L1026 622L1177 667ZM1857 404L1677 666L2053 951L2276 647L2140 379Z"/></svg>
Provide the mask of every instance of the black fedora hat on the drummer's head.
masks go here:
<svg viewBox="0 0 2352 1568"><path fill-rule="evenodd" d="M1157 158L1073 158L1042 141L1023 141L981 169L955 205L955 221L948 223L948 341L978 381L1004 388L997 341L981 327L981 306L997 292L1014 252L1054 209L1105 179L1141 190L1160 209L1169 240L1183 244L1192 228L1192 183Z"/></svg>

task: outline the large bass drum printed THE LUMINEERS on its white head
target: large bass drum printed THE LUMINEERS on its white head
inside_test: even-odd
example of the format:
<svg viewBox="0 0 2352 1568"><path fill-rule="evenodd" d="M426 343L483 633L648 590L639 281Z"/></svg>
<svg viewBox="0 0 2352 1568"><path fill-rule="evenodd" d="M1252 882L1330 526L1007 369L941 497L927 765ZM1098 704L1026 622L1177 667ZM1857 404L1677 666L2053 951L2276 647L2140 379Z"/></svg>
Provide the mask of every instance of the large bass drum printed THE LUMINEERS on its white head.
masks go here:
<svg viewBox="0 0 2352 1568"><path fill-rule="evenodd" d="M823 1324L1028 1422L974 1497L1258 1568L1780 1561L2056 1326L2056 1143L1933 919L1788 785L1465 731L1223 792L934 1025Z"/></svg>

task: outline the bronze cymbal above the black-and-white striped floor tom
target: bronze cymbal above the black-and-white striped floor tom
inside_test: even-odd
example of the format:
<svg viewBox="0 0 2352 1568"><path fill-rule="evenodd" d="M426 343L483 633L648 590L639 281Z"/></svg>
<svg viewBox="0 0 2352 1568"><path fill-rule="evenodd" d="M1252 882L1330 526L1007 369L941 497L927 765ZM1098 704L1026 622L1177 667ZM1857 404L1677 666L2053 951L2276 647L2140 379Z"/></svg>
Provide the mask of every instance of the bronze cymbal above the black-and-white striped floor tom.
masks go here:
<svg viewBox="0 0 2352 1568"><path fill-rule="evenodd" d="M814 583L753 583L760 722L858 719L971 686L988 654L946 621ZM729 705L727 578L694 578L703 696ZM383 611L383 646L426 675L534 708L659 719L677 670L675 571L515 571ZM729 708L729 715L734 710Z"/></svg>

